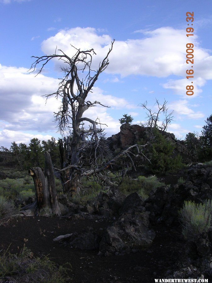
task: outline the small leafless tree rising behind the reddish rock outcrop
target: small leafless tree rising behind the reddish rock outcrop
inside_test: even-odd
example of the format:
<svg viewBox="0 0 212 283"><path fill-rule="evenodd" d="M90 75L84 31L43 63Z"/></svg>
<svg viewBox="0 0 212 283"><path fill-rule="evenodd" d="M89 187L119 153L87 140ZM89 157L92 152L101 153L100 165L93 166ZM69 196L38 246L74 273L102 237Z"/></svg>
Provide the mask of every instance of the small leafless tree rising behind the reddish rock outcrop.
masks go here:
<svg viewBox="0 0 212 283"><path fill-rule="evenodd" d="M168 108L166 106L167 101L164 100L163 104L160 104L158 102L158 99L156 99L156 103L158 106L158 111L152 113L152 110L147 108L147 101L145 101L144 103L139 104L140 106L142 106L144 109L148 110L147 114L147 122L144 124L141 124L144 127L147 127L150 129L150 131L153 128L158 128L161 132L165 132L167 130L168 125L171 123L171 121L173 121L174 116L172 115L174 110L168 114ZM162 124L161 126L158 125L158 122L160 121L160 114L163 113L165 115L165 118L163 118L162 120Z"/></svg>

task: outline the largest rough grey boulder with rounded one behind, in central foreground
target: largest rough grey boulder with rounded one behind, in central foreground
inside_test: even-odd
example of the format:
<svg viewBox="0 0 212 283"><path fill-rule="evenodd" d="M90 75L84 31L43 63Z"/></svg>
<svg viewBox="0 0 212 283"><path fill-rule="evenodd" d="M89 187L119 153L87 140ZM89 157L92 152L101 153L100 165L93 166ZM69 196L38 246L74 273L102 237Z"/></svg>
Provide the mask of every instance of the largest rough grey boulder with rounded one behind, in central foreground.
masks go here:
<svg viewBox="0 0 212 283"><path fill-rule="evenodd" d="M100 242L100 254L123 254L149 247L155 232L149 229L149 212L138 193L129 195L119 209L120 217L107 227Z"/></svg>

